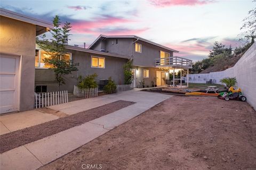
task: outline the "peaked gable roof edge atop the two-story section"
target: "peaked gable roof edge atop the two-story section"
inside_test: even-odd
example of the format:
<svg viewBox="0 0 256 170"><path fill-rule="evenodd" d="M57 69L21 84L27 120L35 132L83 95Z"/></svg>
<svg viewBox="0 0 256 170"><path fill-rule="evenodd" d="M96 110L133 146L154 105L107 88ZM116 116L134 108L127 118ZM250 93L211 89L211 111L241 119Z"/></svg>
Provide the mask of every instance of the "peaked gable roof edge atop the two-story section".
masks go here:
<svg viewBox="0 0 256 170"><path fill-rule="evenodd" d="M179 53L179 51L177 51L175 49L163 46L161 44L154 43L153 41L149 41L149 40L147 40L145 38L141 38L141 37L138 37L138 36L135 36L135 35L122 35L122 36L105 36L105 35L100 35L97 39L95 39L93 41L93 43L88 48L89 49L92 48L94 45L97 45L99 41L101 41L101 40L103 40L105 38L135 38L135 39L138 39L138 40L141 40L141 41L145 41L146 43L149 43L149 44L152 44L152 45L155 45L155 46L158 46L158 47L162 47L162 48L167 49L167 50L171 50L174 53Z"/></svg>

